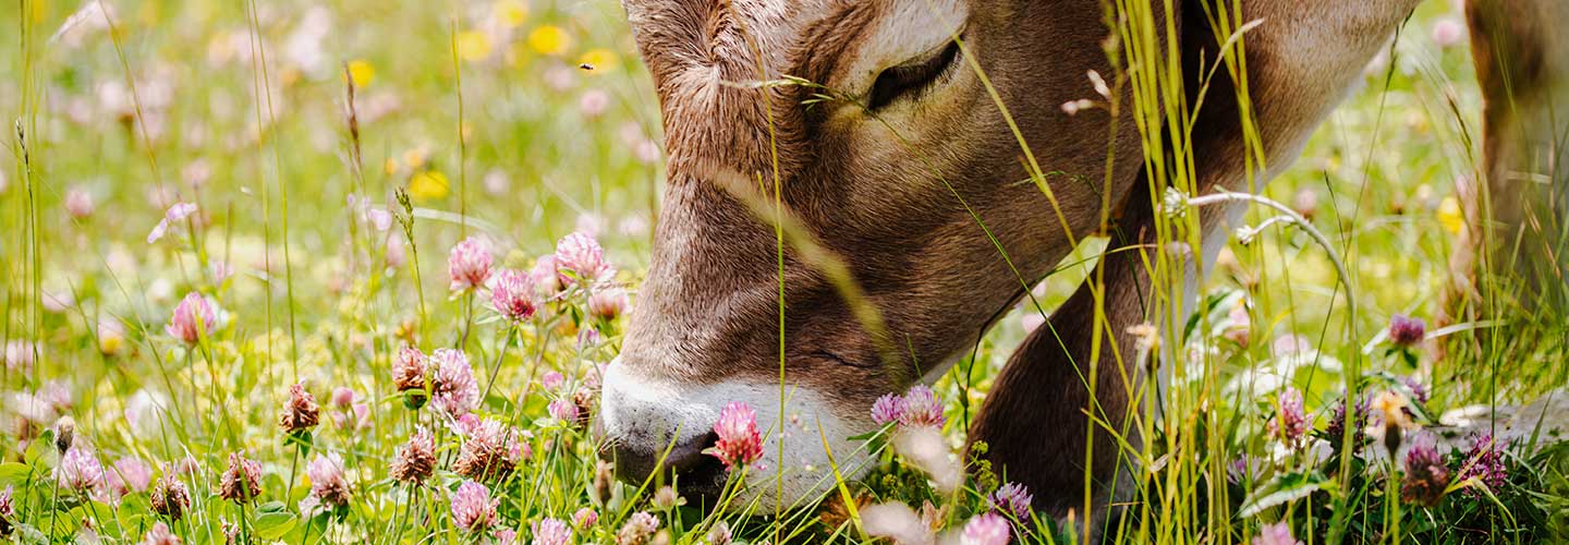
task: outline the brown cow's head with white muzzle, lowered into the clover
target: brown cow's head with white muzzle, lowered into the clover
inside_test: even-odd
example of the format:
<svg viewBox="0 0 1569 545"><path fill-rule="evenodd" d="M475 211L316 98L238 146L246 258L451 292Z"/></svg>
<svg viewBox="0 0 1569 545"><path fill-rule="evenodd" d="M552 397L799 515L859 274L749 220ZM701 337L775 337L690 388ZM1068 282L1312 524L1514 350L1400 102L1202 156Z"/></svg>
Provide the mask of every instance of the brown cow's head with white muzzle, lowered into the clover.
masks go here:
<svg viewBox="0 0 1569 545"><path fill-rule="evenodd" d="M1021 278L1072 250L1065 229L1094 229L1112 135L1105 113L1061 107L1095 97L1086 71L1109 72L1100 3L624 6L659 93L668 162L653 264L606 374L601 430L624 476L643 477L668 446L683 488L703 492L723 479L700 454L719 410L748 402L767 437L766 471L750 474L770 482L752 490L791 504L833 482L824 437L854 474L865 457L847 438L872 429L872 402L940 375L1020 297ZM786 75L824 88L764 83ZM1031 182L992 90L1040 168L1065 173L1047 179L1061 217ZM1138 157L1131 123L1116 146ZM1114 166L1112 195L1136 166ZM780 264L775 195L844 264L880 314L882 339L789 243Z"/></svg>

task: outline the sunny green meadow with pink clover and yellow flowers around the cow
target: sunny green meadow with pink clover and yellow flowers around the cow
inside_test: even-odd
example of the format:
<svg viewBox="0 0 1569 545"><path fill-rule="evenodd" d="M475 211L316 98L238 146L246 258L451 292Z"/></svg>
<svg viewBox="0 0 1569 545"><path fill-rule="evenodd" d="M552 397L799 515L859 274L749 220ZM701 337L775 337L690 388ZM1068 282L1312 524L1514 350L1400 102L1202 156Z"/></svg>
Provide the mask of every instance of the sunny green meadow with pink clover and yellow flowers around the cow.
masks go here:
<svg viewBox="0 0 1569 545"><path fill-rule="evenodd" d="M590 421L662 176L618 2L22 0L0 28L0 540L1084 539L962 457L1034 308L890 393L876 468L825 498L613 479ZM1481 138L1458 8L1422 5L1363 82L1261 192L1331 247L1250 212L1106 536L1569 540L1564 424L1536 426L1569 418L1564 316L1445 297Z"/></svg>

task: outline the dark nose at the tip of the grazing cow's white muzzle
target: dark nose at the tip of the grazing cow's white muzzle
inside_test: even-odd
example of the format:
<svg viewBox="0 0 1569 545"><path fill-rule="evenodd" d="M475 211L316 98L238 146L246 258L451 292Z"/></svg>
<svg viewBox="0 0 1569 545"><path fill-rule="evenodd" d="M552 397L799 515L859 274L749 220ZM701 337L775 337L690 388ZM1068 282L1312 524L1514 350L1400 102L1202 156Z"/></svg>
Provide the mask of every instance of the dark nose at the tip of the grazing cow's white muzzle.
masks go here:
<svg viewBox="0 0 1569 545"><path fill-rule="evenodd" d="M634 485L640 485L656 471L673 471L684 495L708 495L719 492L723 484L725 468L719 459L703 454L703 449L714 444L719 435L708 432L684 438L676 444L628 444L617 441L610 454L615 457L615 476ZM668 448L668 454L665 449ZM664 463L661 463L664 457Z"/></svg>

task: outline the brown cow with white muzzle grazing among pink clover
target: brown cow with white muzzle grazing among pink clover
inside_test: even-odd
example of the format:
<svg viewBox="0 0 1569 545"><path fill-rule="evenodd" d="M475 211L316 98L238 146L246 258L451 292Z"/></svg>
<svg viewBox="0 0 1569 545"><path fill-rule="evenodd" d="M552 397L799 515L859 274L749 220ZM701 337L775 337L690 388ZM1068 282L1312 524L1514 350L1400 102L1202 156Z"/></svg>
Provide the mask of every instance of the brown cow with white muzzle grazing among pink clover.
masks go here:
<svg viewBox="0 0 1569 545"><path fill-rule="evenodd" d="M1178 33L1189 77L1213 74L1225 42L1246 44L1249 102L1238 104L1222 68L1192 116L1196 187L1208 193L1261 187L1285 170L1417 0L1240 0L1240 38L1216 33L1200 0L1167 5L1156 17L1169 25L1158 28ZM1087 415L1128 427L1144 410L1145 372L1105 364L1089 388L1078 363L1094 352L1134 364L1105 353L1134 353L1139 335L1128 331L1152 320L1141 256L1158 245L1159 195L1134 123L1112 123L1105 108L1064 112L1087 97L1131 101L1127 86L1097 82L1116 72L1103 2L623 6L659 97L667 163L653 259L596 416L618 474L640 481L668 468L683 492L719 492L726 473L701 451L720 408L744 401L761 426L783 422L769 432L766 471L748 473L747 498L792 506L821 496L835 470L852 479L868 466L852 437L876 429L879 396L941 377L1078 240L1103 234L1098 280L1023 341L968 438L985 441L993 468L1034 490L1047 514L1098 509L1130 488L1123 449L1139 444L1138 430L1087 433L1097 426ZM1489 33L1478 52L1495 46L1478 60L1513 66L1480 71L1487 162L1531 168L1525 151L1509 149L1539 151L1564 126L1533 112L1566 96L1549 90L1549 71L1563 74L1569 57L1544 46L1566 8L1473 0L1469 11L1473 31ZM1533 99L1514 101L1522 96ZM1505 116L1509 101L1538 110ZM1261 141L1257 171L1244 110ZM1520 119L1541 126L1528 143L1511 140L1527 138L1513 130ZM1489 179L1497 193L1519 176ZM1208 269L1240 218L1236 206L1200 214L1192 270ZM1141 251L1117 251L1127 248Z"/></svg>

